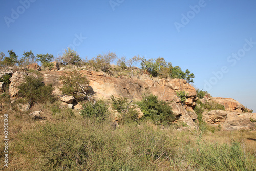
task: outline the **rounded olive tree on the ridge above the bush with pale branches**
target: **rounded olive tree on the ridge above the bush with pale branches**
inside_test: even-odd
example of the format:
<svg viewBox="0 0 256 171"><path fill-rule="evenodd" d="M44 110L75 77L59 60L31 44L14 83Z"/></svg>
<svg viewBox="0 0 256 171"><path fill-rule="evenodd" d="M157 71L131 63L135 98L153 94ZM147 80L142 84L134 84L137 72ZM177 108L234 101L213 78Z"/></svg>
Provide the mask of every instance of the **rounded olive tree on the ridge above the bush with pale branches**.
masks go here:
<svg viewBox="0 0 256 171"><path fill-rule="evenodd" d="M65 49L65 53L59 58L60 62L62 62L64 65L72 64L79 66L81 64L82 59L79 57L79 54L77 54L76 51L68 48L68 50Z"/></svg>

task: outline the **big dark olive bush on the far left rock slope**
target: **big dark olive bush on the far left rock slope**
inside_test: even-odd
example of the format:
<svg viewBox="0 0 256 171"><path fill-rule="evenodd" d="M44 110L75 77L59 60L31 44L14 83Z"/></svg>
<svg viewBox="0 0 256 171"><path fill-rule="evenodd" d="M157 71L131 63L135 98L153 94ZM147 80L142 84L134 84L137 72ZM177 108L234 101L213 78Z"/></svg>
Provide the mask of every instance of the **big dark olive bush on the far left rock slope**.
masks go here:
<svg viewBox="0 0 256 171"><path fill-rule="evenodd" d="M25 98L30 105L47 101L54 102L52 85L45 86L42 80L41 77L25 76L25 82L18 87L20 97Z"/></svg>

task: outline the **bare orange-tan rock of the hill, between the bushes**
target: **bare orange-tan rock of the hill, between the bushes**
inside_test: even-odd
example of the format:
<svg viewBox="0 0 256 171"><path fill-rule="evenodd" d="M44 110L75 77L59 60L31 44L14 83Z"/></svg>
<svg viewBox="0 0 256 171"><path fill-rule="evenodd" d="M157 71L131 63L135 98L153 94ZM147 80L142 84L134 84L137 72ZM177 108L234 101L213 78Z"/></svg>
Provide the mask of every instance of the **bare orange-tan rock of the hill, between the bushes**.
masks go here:
<svg viewBox="0 0 256 171"><path fill-rule="evenodd" d="M38 66L34 66L38 70ZM52 84L53 93L61 99L63 97L59 88L62 86L60 76L65 75L65 71L55 67L53 71L40 71L44 78L45 84ZM104 72L96 72L90 70L80 70L79 73L85 75L89 82L90 89L88 93L95 99L110 100L110 97L125 97L134 101L141 100L144 93L156 95L159 100L163 100L172 106L173 113L176 117L176 123L185 123L186 127L196 128L198 125L198 114L193 110L196 106L204 104L220 104L224 106L224 110L209 110L204 107L202 113L203 120L213 126L221 125L223 130L233 129L256 129L256 113L245 108L238 101L230 98L215 98L209 94L199 99L196 89L183 79L157 79L150 78L147 74L136 75L130 78L116 78L109 76ZM25 75L33 75L35 73L18 70L2 70L0 78L10 75L9 95L13 102L18 98L18 86L24 82ZM0 82L2 90L3 82ZM182 103L177 92L184 91L186 100ZM62 101L65 101L62 99ZM68 100L69 101L69 100ZM80 109L79 103L71 100L68 102L70 108ZM2 104L3 105L3 104ZM20 105L20 110L29 110L29 105ZM202 106L200 106L202 107ZM206 108L206 109L205 109ZM33 111L32 111L33 112Z"/></svg>

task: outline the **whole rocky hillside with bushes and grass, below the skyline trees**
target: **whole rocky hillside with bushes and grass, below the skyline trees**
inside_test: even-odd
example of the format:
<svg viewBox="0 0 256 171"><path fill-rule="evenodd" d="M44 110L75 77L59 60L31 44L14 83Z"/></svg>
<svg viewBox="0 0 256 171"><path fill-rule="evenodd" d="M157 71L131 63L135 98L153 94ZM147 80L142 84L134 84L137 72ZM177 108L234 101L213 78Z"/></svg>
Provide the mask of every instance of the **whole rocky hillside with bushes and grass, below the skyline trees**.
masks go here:
<svg viewBox="0 0 256 171"><path fill-rule="evenodd" d="M184 79L151 77L136 67L123 71L130 76L113 76L54 65L48 71L38 71L38 65L0 71L9 170L255 169L256 113L238 101L211 97ZM71 84L74 96L63 93ZM156 106L147 113L144 106L153 101ZM208 153L210 160L204 159ZM215 162L222 164L212 166Z"/></svg>

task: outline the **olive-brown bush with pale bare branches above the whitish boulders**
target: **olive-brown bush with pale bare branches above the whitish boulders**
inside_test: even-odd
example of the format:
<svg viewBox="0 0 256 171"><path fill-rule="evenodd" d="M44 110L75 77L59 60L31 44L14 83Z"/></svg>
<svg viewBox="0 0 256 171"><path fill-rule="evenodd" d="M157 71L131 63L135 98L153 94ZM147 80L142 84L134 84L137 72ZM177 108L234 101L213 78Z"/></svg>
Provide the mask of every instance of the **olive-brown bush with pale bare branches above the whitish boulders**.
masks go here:
<svg viewBox="0 0 256 171"><path fill-rule="evenodd" d="M60 80L63 82L63 87L60 88L62 93L74 96L76 100L84 100L87 98L86 91L89 87L89 81L86 76L80 74L76 70L65 72L65 74L65 76L60 77Z"/></svg>

